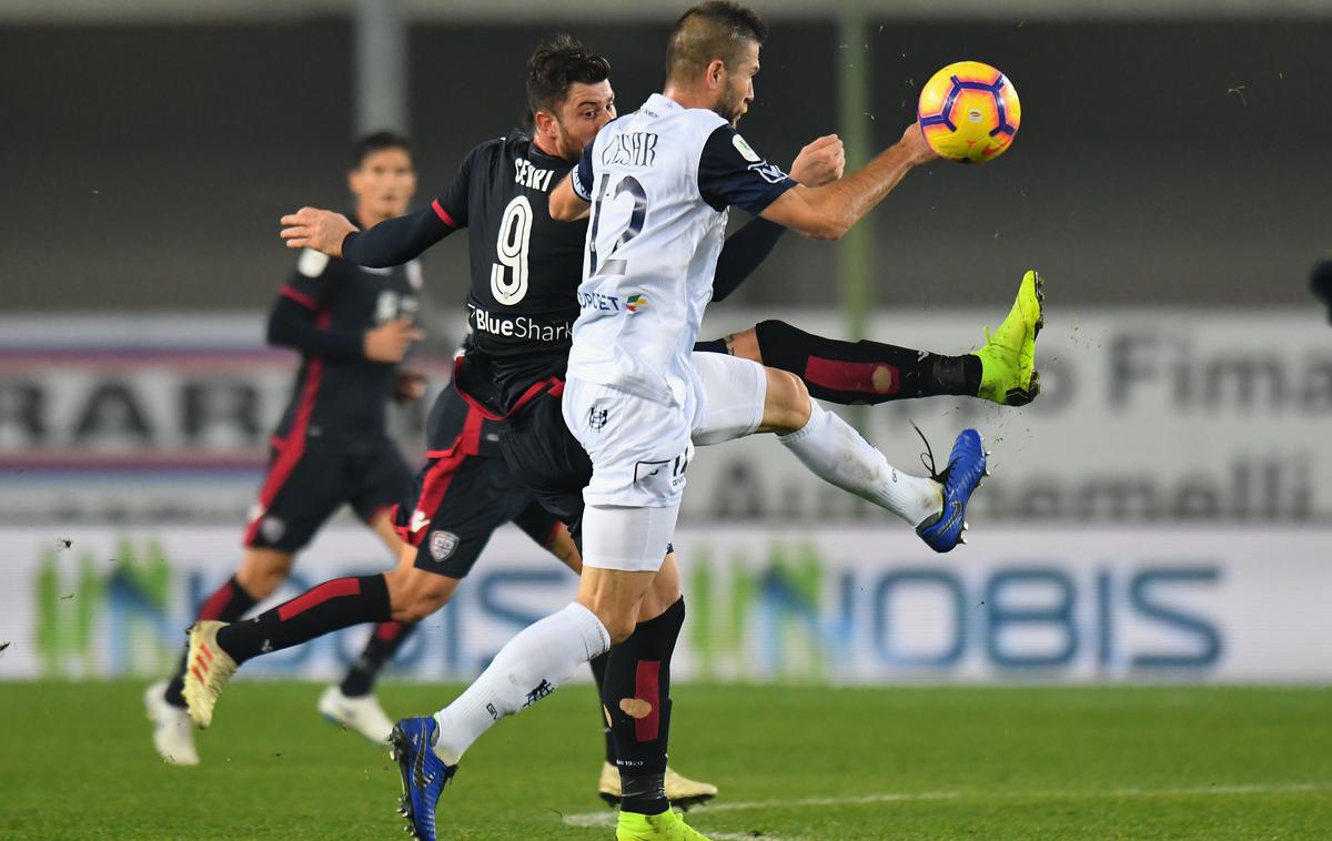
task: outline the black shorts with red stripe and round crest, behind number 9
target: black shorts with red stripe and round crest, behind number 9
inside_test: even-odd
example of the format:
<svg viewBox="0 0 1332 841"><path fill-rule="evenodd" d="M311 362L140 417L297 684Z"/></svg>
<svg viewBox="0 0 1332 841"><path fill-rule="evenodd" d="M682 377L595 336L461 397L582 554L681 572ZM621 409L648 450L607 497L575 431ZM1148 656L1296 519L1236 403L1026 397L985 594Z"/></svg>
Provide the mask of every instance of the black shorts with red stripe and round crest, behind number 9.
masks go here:
<svg viewBox="0 0 1332 841"><path fill-rule="evenodd" d="M454 579L466 578L490 535L507 522L546 548L559 528L503 459L464 447L426 462L393 515L398 535L417 547L416 567Z"/></svg>

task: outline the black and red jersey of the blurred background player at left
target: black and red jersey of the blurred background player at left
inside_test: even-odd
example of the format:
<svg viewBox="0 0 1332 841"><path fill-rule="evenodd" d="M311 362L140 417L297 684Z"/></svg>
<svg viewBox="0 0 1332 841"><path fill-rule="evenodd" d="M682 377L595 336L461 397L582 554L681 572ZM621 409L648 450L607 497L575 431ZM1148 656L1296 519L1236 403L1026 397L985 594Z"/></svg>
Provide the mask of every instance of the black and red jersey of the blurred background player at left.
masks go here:
<svg viewBox="0 0 1332 841"><path fill-rule="evenodd" d="M417 317L421 267L366 269L302 252L269 315L269 342L301 351L292 399L273 443L300 439L356 452L388 436L385 403L397 366L365 358L368 330Z"/></svg>

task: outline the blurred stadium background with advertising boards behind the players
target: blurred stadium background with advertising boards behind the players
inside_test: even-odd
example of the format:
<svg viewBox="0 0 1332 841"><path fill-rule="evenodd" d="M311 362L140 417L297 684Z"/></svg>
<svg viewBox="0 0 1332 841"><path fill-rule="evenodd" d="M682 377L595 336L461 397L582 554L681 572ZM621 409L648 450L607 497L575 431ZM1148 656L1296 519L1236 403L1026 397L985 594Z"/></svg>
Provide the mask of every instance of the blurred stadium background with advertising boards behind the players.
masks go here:
<svg viewBox="0 0 1332 841"><path fill-rule="evenodd" d="M293 362L261 343L292 265L277 217L346 205L357 130L410 130L425 201L515 122L539 36L603 52L630 109L661 84L679 5L0 3L0 679L160 673L238 560ZM1305 279L1332 248L1332 8L758 5L773 36L742 128L777 161L830 130L863 158L962 57L1008 73L1024 125L990 166L912 174L859 237L790 237L709 331L779 314L966 349L1036 266L1047 391L1020 411L851 413L906 468L908 419L936 446L986 431L976 538L944 559L771 440L705 451L678 542L681 675L1332 680L1332 333ZM465 267L462 238L428 255L436 385ZM421 411L397 423L417 458ZM292 588L386 563L342 520ZM474 673L571 584L500 535L398 675ZM356 633L248 672L326 677Z"/></svg>

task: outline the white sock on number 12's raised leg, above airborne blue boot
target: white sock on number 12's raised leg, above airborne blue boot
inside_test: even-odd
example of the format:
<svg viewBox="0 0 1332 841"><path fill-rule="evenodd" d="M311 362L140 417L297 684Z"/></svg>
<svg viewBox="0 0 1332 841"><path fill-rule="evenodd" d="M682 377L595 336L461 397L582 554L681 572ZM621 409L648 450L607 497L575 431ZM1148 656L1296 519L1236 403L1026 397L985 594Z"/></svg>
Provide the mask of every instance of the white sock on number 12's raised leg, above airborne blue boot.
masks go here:
<svg viewBox="0 0 1332 841"><path fill-rule="evenodd" d="M911 526L943 510L943 488L938 482L896 470L855 428L814 401L809 422L778 440L818 478L868 499Z"/></svg>

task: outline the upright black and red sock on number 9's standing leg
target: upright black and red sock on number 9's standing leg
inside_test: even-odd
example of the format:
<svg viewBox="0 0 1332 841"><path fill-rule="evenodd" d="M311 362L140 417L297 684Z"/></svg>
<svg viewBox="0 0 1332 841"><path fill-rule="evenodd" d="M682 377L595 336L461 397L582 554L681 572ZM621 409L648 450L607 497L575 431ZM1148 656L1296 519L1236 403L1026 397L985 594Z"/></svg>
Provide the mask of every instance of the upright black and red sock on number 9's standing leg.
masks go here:
<svg viewBox="0 0 1332 841"><path fill-rule="evenodd" d="M670 739L670 657L685 624L685 599L610 649L602 704L615 739L623 812L661 814Z"/></svg>

